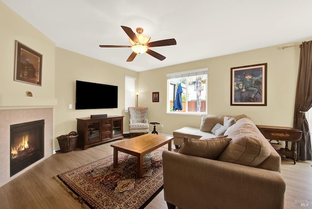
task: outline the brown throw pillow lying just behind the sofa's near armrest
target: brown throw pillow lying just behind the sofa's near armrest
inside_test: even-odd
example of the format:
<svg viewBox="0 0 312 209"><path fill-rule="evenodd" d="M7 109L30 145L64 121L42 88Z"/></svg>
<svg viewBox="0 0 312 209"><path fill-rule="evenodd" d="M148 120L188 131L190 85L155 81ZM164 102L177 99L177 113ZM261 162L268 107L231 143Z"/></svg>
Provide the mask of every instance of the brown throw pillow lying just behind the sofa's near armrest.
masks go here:
<svg viewBox="0 0 312 209"><path fill-rule="evenodd" d="M215 160L232 140L226 137L227 136L223 136L223 138L218 137L205 140L184 137L184 143L178 152L185 155Z"/></svg>

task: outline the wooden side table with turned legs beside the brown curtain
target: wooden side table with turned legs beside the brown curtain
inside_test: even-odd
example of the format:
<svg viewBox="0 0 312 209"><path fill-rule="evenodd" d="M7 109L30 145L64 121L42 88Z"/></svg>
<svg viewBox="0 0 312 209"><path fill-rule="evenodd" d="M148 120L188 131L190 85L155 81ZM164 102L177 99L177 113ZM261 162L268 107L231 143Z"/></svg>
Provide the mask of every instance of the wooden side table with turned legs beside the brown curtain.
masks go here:
<svg viewBox="0 0 312 209"><path fill-rule="evenodd" d="M282 126L270 126L270 125L256 125L263 136L268 140L285 141L285 148L276 150L279 155L285 157L291 157L293 164L296 164L297 159L297 141L302 137L302 131ZM292 149L288 148L288 142L292 142Z"/></svg>

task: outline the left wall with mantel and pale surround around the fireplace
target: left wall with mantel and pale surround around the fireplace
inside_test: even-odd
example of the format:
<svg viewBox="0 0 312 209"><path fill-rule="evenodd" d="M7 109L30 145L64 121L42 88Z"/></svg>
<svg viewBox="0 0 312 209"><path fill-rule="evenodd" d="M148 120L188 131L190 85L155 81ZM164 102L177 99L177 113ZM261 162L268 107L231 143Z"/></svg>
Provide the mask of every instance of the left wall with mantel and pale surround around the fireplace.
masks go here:
<svg viewBox="0 0 312 209"><path fill-rule="evenodd" d="M42 54L42 86L14 81L15 41ZM55 43L0 1L0 187L53 154ZM27 97L31 91L33 97ZM44 158L10 177L10 125L45 120Z"/></svg>

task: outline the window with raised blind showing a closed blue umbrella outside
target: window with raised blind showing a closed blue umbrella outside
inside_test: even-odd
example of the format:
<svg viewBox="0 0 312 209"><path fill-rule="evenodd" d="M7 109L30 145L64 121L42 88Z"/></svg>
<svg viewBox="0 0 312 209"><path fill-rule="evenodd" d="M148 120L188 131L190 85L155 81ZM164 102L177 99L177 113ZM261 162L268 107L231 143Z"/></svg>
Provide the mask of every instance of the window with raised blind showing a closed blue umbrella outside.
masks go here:
<svg viewBox="0 0 312 209"><path fill-rule="evenodd" d="M208 68L167 74L167 112L168 113L206 113ZM182 110L176 109L179 96L176 94L181 84Z"/></svg>

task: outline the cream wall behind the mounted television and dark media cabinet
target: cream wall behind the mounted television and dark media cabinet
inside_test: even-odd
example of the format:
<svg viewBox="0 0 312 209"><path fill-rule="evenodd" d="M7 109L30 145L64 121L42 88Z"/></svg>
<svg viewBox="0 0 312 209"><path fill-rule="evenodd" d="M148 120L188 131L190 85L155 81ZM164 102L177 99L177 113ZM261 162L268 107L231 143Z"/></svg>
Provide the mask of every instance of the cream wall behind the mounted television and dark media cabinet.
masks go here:
<svg viewBox="0 0 312 209"><path fill-rule="evenodd" d="M125 114L125 75L137 77L137 72L118 67L113 64L86 57L59 47L56 47L56 98L58 106L55 108L55 136L77 131L76 118L90 117L90 115L107 114L123 115L123 131L128 131L129 115ZM76 80L99 84L118 86L118 108L113 109L75 109ZM105 92L98 92L98 99L105 100ZM69 104L73 105L69 109ZM55 139L55 149L59 149Z"/></svg>

